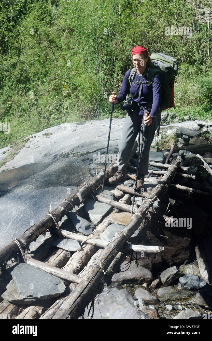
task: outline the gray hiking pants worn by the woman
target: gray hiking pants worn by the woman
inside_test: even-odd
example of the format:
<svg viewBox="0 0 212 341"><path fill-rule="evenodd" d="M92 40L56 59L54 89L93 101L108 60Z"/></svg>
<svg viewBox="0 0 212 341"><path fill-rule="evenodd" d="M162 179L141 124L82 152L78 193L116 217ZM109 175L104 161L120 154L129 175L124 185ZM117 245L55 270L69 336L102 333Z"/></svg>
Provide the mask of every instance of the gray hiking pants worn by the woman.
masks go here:
<svg viewBox="0 0 212 341"><path fill-rule="evenodd" d="M141 144L142 144L142 120L143 116L138 115L138 132L133 132L133 115L127 114L124 121L122 134L118 143L118 168L120 170L125 170L127 168L127 162L129 159L130 152L132 150L133 144L136 140L138 133L140 134ZM155 136L155 131L158 126L158 116L155 117L152 124L146 127L143 150L141 154L141 163L139 168L140 174L148 174L149 166L149 153L150 147Z"/></svg>

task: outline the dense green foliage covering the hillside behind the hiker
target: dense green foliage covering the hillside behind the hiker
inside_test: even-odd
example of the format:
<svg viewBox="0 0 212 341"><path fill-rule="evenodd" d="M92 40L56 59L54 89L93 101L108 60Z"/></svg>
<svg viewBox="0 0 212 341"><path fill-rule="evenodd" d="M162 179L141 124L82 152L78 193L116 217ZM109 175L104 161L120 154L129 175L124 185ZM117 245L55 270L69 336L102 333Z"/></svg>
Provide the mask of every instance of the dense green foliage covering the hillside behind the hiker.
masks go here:
<svg viewBox="0 0 212 341"><path fill-rule="evenodd" d="M206 26L194 14L185 0L122 0L120 12L111 0L2 0L0 122L11 122L11 133L0 133L1 147L64 123L63 109L66 122L108 118L136 45L180 61L176 116L210 116ZM166 35L171 25L194 34ZM124 115L115 106L113 117Z"/></svg>

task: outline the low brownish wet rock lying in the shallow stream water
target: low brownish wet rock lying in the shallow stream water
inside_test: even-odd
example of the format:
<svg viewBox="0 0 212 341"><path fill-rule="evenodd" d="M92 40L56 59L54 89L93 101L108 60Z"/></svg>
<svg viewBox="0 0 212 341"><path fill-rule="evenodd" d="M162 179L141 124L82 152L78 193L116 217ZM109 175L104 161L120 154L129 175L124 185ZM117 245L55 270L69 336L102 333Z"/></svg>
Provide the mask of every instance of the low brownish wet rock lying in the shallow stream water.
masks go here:
<svg viewBox="0 0 212 341"><path fill-rule="evenodd" d="M164 286L155 289L153 294L156 295L160 301L180 300L193 296L193 293L187 288L179 288L178 286Z"/></svg>

